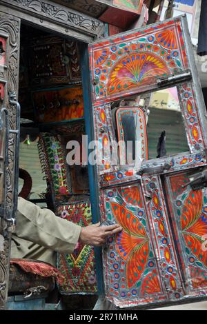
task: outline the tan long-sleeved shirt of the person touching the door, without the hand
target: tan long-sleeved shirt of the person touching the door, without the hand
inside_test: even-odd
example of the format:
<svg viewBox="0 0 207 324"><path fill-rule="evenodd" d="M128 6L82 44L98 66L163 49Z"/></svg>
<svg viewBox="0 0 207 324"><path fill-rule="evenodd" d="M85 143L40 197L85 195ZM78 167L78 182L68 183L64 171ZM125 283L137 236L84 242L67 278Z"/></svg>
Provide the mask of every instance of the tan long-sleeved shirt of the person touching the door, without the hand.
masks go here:
<svg viewBox="0 0 207 324"><path fill-rule="evenodd" d="M37 259L56 266L55 252L71 254L80 232L79 225L19 197L11 258Z"/></svg>

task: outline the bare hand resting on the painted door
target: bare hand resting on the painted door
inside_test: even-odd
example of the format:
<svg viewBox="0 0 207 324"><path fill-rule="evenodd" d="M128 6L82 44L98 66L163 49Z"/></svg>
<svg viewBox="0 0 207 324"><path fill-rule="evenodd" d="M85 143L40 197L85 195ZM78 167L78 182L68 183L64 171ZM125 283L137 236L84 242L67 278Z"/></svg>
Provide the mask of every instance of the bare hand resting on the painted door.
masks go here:
<svg viewBox="0 0 207 324"><path fill-rule="evenodd" d="M119 233L121 230L122 227L118 224L100 226L100 223L97 223L82 227L79 242L88 245L101 246L106 242L108 236Z"/></svg>

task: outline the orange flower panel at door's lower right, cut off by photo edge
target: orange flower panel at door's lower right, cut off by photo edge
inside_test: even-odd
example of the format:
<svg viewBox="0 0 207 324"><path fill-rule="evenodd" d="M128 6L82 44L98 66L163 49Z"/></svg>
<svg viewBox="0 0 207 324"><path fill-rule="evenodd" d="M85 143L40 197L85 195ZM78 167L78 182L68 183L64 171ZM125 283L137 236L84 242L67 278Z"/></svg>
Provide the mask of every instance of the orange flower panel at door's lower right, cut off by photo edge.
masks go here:
<svg viewBox="0 0 207 324"><path fill-rule="evenodd" d="M190 174L178 174L167 178L167 188L172 190L168 199L182 267L188 291L207 290L207 192L191 190Z"/></svg>

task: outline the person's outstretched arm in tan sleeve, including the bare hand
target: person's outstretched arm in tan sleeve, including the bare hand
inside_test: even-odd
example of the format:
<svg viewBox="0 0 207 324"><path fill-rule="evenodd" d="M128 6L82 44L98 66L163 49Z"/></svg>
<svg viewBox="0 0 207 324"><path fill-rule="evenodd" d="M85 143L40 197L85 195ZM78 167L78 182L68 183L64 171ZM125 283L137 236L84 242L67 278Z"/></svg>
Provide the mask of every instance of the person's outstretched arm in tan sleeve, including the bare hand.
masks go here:
<svg viewBox="0 0 207 324"><path fill-rule="evenodd" d="M99 223L81 227L55 216L48 209L18 199L16 234L21 239L32 241L41 246L61 253L72 253L78 241L99 246L108 236L121 231L119 225L99 227Z"/></svg>

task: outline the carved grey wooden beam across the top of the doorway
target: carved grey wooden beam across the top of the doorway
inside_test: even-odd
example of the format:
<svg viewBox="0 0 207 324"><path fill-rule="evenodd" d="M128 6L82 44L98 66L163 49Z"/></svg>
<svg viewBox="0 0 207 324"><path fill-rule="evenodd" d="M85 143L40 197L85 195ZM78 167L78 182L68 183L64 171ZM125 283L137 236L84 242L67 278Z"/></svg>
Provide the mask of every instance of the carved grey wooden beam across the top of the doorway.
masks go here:
<svg viewBox="0 0 207 324"><path fill-rule="evenodd" d="M1 0L0 10L33 26L90 43L104 37L105 24L50 0Z"/></svg>

